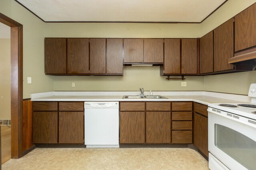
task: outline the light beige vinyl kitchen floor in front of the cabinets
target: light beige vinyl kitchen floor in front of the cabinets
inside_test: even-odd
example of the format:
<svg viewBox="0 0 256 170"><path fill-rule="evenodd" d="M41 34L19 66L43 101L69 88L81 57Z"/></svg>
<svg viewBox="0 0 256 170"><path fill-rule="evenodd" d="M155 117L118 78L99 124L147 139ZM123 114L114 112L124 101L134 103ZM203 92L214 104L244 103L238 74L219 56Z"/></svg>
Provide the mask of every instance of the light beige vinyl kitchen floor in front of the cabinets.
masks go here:
<svg viewBox="0 0 256 170"><path fill-rule="evenodd" d="M190 148L35 148L2 170L208 170Z"/></svg>

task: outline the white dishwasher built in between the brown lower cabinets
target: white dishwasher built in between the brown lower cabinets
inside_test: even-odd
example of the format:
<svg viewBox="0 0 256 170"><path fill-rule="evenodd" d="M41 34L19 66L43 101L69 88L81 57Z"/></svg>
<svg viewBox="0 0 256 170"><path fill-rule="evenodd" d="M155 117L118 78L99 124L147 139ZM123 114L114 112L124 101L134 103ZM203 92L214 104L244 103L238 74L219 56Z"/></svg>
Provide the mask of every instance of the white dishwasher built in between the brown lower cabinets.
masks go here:
<svg viewBox="0 0 256 170"><path fill-rule="evenodd" d="M87 148L119 147L119 102L84 102Z"/></svg>

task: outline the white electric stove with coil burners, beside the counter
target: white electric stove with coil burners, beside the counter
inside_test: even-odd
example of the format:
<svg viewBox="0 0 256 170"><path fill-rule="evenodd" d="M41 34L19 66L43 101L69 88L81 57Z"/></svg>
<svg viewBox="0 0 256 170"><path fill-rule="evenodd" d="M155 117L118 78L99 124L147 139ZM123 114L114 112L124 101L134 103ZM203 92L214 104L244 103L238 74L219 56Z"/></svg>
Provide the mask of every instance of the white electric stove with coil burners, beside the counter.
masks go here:
<svg viewBox="0 0 256 170"><path fill-rule="evenodd" d="M256 83L251 103L208 104L210 170L256 168Z"/></svg>

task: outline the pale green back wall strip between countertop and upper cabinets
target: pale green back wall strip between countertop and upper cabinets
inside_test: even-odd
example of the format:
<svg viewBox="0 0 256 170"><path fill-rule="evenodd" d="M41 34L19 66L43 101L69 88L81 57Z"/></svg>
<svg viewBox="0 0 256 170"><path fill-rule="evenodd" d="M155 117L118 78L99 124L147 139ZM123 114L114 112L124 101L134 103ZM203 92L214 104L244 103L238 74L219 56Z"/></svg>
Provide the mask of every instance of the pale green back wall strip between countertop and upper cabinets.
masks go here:
<svg viewBox="0 0 256 170"><path fill-rule="evenodd" d="M124 76L55 76L54 87L58 91L201 91L204 90L202 76L185 76L187 87L181 80L166 80L160 76L159 67L124 67ZM76 87L71 87L75 82Z"/></svg>

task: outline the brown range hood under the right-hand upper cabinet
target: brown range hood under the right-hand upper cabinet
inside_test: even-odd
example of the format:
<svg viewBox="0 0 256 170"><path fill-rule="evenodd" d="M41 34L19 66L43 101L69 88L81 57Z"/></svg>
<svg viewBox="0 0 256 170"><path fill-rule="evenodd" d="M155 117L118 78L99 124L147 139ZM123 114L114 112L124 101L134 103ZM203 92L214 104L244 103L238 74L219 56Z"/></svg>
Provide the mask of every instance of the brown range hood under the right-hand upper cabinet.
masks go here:
<svg viewBox="0 0 256 170"><path fill-rule="evenodd" d="M256 47L247 49L234 54L234 57L228 59L229 64L256 64Z"/></svg>

